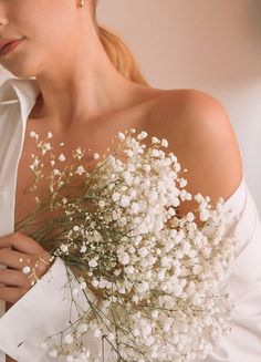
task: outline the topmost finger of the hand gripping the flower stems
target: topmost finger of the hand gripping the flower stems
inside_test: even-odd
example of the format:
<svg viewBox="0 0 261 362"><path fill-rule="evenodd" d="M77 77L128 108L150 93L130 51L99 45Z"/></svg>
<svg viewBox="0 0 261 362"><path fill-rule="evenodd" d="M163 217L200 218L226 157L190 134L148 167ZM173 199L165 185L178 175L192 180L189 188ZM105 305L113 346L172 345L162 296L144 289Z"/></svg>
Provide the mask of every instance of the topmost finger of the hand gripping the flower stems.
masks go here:
<svg viewBox="0 0 261 362"><path fill-rule="evenodd" d="M29 255L39 254L43 250L35 240L21 232L13 232L0 237L0 248L8 247Z"/></svg>

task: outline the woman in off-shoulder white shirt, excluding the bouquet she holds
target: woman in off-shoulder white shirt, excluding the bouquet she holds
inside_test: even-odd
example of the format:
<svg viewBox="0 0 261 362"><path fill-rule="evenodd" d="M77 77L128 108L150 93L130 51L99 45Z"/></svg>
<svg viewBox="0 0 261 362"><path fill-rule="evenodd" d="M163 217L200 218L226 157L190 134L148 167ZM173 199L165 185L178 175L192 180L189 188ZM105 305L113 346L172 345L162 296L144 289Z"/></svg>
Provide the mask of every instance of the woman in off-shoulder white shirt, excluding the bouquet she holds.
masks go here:
<svg viewBox="0 0 261 362"><path fill-rule="evenodd" d="M0 89L0 263L7 267L0 269L0 300L7 303L0 320L0 362L6 356L8 362L49 361L38 343L62 330L70 308L61 292L66 278L61 259L46 261L49 250L25 231L13 232L14 223L33 207L33 199L23 193L35 152L32 131L40 137L51 131L56 154L64 143L66 155L77 145L103 154L116 132L129 127L167 138L169 149L188 168L187 190L213 201L222 196L240 215L240 252L247 250L248 260L257 263L257 248L261 248L260 220L225 107L197 90L150 87L119 39L97 24L95 9L95 0L0 0L0 41L21 39L12 51L0 53L0 64L27 79L8 80ZM180 214L196 207L194 201L184 204ZM243 234L246 223L248 234ZM40 280L32 287L22 269L32 269L36 260ZM208 362L260 361L260 317L255 324L253 320L260 313L255 303L261 306L261 270L255 267L254 272L250 267L234 270L231 288L237 285L251 312L238 311L231 335L215 347ZM250 286L246 296L243 280ZM238 307L246 307L246 300L239 300Z"/></svg>

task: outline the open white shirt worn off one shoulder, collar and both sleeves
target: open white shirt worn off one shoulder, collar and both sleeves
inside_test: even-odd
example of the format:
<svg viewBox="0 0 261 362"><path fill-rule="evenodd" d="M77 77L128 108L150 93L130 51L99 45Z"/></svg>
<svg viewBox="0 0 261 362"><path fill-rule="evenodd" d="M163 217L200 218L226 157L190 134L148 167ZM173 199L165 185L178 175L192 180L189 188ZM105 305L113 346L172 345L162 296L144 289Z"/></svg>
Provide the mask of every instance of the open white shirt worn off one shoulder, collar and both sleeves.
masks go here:
<svg viewBox="0 0 261 362"><path fill-rule="evenodd" d="M0 87L0 236L13 232L18 162L27 120L39 92L35 79L9 79ZM237 258L229 278L237 301L236 313L230 322L231 332L205 361L260 362L261 221L244 177L225 208L233 210L231 218L238 216L231 223L231 229L236 227L237 231ZM6 361L6 353L19 362L53 361L39 343L69 325L70 294L64 301L62 288L66 283L66 269L62 259L56 258L49 271L7 312L6 303L0 301L0 362ZM77 298L87 309L85 297ZM72 321L77 317L73 311ZM86 345L98 349L91 337L86 338Z"/></svg>

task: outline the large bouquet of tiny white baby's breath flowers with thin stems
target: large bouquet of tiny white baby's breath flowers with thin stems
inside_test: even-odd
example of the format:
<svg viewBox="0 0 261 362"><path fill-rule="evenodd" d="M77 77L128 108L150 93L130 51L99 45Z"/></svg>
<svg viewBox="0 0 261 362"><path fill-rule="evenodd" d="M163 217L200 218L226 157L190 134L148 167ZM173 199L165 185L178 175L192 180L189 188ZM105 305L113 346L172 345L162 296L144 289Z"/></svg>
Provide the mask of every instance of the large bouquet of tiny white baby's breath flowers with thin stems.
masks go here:
<svg viewBox="0 0 261 362"><path fill-rule="evenodd" d="M233 302L222 281L234 255L234 234L227 235L231 210L223 210L222 197L213 207L197 194L197 213L179 216L178 206L191 195L177 157L163 151L167 139L153 136L147 147L142 143L147 133L135 133L118 132L116 152L104 159L95 153L90 170L81 147L71 164L59 167L65 156L52 154L51 132L42 141L31 132L40 155L32 155L35 177L29 192L38 193L43 177L49 189L42 199L36 194L35 211L17 229L30 229L38 216L53 213L30 236L62 258L69 285L71 278L77 281L72 297L83 292L90 304L70 331L61 332L60 344L52 337L41 344L54 359L101 361L84 342L92 333L101 349L109 345L103 361L188 362L206 358L229 331Z"/></svg>

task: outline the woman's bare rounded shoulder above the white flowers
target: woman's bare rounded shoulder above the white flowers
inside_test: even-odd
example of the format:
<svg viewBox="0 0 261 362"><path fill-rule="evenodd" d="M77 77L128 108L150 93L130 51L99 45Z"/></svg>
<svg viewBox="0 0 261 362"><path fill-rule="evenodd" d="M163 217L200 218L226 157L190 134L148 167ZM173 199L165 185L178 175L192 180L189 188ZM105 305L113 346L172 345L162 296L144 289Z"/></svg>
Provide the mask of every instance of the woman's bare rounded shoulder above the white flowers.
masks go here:
<svg viewBox="0 0 261 362"><path fill-rule="evenodd" d="M153 110L152 132L168 139L176 154L186 189L209 196L211 203L228 199L238 188L243 166L239 143L226 107L212 95L198 90L174 90L160 96ZM180 215L198 204L182 203Z"/></svg>

